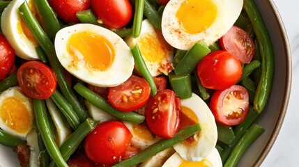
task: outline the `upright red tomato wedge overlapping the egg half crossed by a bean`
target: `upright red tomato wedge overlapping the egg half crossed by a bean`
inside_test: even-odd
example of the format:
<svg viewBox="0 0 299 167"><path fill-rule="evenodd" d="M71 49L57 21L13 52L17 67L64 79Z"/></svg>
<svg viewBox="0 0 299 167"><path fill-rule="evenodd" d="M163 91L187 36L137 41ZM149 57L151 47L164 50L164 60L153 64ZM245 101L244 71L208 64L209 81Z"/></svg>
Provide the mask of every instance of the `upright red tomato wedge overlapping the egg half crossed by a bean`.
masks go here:
<svg viewBox="0 0 299 167"><path fill-rule="evenodd" d="M181 102L174 91L165 89L148 100L146 123L149 129L162 138L171 138L178 132Z"/></svg>

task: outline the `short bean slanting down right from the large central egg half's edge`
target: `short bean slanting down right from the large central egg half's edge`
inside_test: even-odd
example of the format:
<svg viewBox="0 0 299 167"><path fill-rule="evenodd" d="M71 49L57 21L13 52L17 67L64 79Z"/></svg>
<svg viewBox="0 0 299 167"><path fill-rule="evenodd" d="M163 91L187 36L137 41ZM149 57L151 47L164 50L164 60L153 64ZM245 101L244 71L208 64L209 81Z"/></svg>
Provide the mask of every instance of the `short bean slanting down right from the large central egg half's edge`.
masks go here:
<svg viewBox="0 0 299 167"><path fill-rule="evenodd" d="M148 81L148 84L151 87L151 95L155 95L157 93L157 87L155 86L155 81L153 80L151 73L148 71L148 67L144 62L144 58L142 58L139 47L135 45L135 47L131 49L131 52L135 60L135 65L137 66L138 70L141 72L144 79Z"/></svg>

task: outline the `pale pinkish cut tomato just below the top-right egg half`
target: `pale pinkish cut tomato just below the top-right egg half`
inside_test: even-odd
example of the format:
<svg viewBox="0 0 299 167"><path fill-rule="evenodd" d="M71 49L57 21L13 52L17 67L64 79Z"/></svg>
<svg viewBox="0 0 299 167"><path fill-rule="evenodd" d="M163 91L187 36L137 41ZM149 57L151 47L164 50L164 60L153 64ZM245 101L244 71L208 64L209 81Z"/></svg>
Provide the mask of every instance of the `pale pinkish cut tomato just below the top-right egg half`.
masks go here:
<svg viewBox="0 0 299 167"><path fill-rule="evenodd" d="M219 41L223 50L229 51L242 63L250 63L252 60L255 53L254 42L250 34L238 26L232 26Z"/></svg>

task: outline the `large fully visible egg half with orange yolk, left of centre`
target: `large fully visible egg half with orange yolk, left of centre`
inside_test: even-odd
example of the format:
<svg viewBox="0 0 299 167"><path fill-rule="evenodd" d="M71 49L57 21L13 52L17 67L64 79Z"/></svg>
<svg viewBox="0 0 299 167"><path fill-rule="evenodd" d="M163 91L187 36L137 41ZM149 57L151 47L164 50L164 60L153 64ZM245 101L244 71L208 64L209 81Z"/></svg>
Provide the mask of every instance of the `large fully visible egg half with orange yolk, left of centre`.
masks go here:
<svg viewBox="0 0 299 167"><path fill-rule="evenodd" d="M116 33L101 26L67 26L56 33L55 49L68 72L93 86L118 86L134 69L130 47Z"/></svg>

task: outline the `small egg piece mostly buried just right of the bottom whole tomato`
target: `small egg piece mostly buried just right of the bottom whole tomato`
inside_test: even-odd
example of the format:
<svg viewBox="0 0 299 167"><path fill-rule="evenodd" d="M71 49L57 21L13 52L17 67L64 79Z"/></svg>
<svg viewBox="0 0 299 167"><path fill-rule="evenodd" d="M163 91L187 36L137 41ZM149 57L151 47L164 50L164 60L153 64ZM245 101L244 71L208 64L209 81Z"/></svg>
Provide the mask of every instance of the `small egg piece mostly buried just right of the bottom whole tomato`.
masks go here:
<svg viewBox="0 0 299 167"><path fill-rule="evenodd" d="M158 136L154 136L144 123L134 124L126 121L123 121L123 123L126 127L128 127L132 134L132 145L134 145L138 150L144 150L161 139Z"/></svg>

